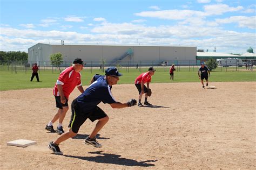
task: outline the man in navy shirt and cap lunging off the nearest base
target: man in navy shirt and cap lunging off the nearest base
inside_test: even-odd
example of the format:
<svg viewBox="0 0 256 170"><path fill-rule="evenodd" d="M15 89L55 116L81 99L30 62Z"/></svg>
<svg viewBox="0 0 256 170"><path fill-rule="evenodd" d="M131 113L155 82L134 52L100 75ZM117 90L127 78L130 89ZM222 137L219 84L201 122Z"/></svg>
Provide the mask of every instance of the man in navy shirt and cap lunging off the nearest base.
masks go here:
<svg viewBox="0 0 256 170"><path fill-rule="evenodd" d="M136 105L137 101L131 99L127 103L117 102L111 93L112 85L117 84L119 76L117 68L110 67L105 70L105 76L95 75L91 80L91 85L73 100L71 109L73 118L71 122L71 128L69 132L63 133L55 141L52 141L48 147L55 154L63 154L60 151L59 144L69 138L75 137L78 133L80 126L89 118L92 122L98 120L95 129L89 137L85 139L85 144L93 145L95 147L102 147L96 140L96 134L103 128L103 126L109 121L109 117L105 112L97 105L100 102L108 103L112 108L126 108Z"/></svg>

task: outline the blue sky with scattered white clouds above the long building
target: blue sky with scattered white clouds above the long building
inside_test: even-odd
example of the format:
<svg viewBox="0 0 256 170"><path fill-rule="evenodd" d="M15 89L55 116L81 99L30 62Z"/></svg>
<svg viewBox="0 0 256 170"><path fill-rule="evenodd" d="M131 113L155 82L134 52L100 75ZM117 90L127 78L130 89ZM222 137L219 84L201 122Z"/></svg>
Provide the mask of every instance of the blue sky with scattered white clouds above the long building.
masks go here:
<svg viewBox="0 0 256 170"><path fill-rule="evenodd" d="M167 45L256 51L255 1L0 0L0 51L37 44Z"/></svg>

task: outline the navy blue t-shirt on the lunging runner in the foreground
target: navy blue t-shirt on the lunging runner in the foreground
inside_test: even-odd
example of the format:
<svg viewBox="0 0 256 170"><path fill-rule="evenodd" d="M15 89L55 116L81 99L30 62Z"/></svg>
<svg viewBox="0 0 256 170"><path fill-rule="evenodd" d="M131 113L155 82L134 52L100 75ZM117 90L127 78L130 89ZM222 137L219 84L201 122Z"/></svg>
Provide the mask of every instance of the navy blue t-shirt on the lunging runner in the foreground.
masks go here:
<svg viewBox="0 0 256 170"><path fill-rule="evenodd" d="M116 103L111 93L112 86L109 86L105 76L95 75L94 82L76 98L77 104L83 112L92 111L100 102Z"/></svg>

